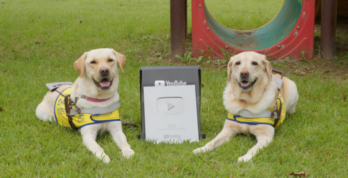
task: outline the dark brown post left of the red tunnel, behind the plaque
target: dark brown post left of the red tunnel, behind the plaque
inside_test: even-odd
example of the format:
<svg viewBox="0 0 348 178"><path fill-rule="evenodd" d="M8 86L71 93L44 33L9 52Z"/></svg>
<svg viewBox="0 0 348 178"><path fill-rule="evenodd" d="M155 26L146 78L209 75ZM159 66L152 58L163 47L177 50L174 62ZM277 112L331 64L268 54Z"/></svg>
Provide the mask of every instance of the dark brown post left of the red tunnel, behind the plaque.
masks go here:
<svg viewBox="0 0 348 178"><path fill-rule="evenodd" d="M175 60L175 55L182 57L185 54L185 8L187 8L185 0L171 0L172 60Z"/></svg>

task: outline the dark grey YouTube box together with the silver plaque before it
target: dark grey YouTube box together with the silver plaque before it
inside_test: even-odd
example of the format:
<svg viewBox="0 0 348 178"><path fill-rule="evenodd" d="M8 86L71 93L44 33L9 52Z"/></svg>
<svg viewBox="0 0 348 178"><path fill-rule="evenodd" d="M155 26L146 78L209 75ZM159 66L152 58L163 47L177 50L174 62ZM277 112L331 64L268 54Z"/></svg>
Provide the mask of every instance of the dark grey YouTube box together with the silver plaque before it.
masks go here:
<svg viewBox="0 0 348 178"><path fill-rule="evenodd" d="M141 140L196 142L200 132L199 66L144 66L139 69Z"/></svg>

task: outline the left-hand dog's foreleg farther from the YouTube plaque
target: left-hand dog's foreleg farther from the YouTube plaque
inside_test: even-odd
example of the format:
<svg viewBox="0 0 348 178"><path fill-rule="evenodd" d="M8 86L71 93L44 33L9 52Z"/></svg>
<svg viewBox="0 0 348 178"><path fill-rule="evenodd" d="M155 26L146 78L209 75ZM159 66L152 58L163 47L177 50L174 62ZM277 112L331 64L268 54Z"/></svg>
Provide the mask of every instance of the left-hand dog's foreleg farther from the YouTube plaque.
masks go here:
<svg viewBox="0 0 348 178"><path fill-rule="evenodd" d="M87 125L81 128L81 135L84 145L90 150L97 158L103 161L104 164L110 162L110 158L105 154L104 150L95 142L96 135L98 133L98 124Z"/></svg>

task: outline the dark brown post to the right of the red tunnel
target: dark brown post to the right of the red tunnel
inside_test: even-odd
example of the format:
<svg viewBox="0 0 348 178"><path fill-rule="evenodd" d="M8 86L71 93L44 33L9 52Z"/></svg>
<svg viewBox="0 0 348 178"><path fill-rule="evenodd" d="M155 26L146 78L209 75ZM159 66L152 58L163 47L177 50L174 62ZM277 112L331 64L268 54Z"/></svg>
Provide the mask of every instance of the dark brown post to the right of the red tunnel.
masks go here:
<svg viewBox="0 0 348 178"><path fill-rule="evenodd" d="M326 61L333 61L335 59L337 0L322 0L321 16L320 55Z"/></svg>

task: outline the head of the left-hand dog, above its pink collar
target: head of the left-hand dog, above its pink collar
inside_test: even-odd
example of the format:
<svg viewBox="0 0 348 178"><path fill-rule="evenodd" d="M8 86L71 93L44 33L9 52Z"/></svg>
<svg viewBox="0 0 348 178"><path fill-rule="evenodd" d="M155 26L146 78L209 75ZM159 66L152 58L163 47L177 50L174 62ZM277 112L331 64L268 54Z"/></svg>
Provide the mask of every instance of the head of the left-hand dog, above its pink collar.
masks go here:
<svg viewBox="0 0 348 178"><path fill-rule="evenodd" d="M125 56L113 49L103 48L85 52L74 63L80 78L87 77L100 89L110 89L114 77L117 75L117 65L123 71Z"/></svg>

